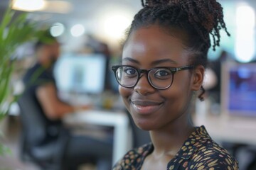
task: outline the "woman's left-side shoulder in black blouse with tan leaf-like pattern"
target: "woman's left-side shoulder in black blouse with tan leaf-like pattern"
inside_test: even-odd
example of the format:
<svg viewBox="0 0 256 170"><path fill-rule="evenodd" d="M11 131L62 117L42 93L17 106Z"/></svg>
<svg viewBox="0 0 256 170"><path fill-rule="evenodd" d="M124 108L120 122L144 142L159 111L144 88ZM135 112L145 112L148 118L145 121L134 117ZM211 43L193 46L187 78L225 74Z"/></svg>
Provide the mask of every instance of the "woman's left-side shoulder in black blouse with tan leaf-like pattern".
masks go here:
<svg viewBox="0 0 256 170"><path fill-rule="evenodd" d="M151 143L142 145L141 147L137 147L135 149L129 150L124 157L114 165L113 170L121 170L121 169L137 169L137 166L142 165L142 162L146 155L148 155L153 149L153 145Z"/></svg>

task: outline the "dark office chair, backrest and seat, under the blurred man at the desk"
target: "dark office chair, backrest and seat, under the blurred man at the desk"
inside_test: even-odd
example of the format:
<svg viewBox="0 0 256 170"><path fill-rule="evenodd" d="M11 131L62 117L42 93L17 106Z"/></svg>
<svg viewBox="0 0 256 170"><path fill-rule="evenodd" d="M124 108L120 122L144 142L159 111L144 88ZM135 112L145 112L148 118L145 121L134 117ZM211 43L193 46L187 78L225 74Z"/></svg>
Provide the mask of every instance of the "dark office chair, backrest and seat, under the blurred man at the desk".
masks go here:
<svg viewBox="0 0 256 170"><path fill-rule="evenodd" d="M21 159L36 163L41 169L62 169L68 131L58 126L48 127L38 103L28 91L20 96L18 105L21 109ZM42 143L49 133L55 140Z"/></svg>

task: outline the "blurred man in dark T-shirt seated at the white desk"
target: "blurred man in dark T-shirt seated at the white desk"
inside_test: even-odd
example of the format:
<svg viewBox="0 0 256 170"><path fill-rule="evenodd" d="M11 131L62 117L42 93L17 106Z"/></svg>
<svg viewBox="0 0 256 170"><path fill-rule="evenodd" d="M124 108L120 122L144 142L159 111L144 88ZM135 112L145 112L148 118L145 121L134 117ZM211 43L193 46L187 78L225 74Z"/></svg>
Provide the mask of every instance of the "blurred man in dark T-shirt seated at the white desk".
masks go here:
<svg viewBox="0 0 256 170"><path fill-rule="evenodd" d="M78 108L78 106L71 106L58 98L53 66L58 60L60 44L50 34L46 35L46 38L45 41L38 40L36 42L36 64L28 69L23 77L26 86L24 94L29 95L35 101L47 129L47 135L29 145L41 146L49 142L59 142L60 138L68 138L68 142L63 146L61 157L63 157L64 164L61 169L77 169L79 164L85 163L88 159L96 163L100 162L97 164L98 169L110 169L112 164L111 140L98 140L90 136L73 136L63 127L61 120L65 114L74 113L78 109L88 109L90 106ZM63 138L60 134L65 134L65 137Z"/></svg>

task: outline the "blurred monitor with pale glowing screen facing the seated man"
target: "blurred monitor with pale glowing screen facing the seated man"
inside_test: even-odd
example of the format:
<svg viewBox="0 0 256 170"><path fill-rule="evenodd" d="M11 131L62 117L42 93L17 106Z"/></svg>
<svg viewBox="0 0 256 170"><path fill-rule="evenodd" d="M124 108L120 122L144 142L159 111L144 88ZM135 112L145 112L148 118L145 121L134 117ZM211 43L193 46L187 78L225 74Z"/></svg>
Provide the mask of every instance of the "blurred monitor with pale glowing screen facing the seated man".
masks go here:
<svg viewBox="0 0 256 170"><path fill-rule="evenodd" d="M64 54L55 65L59 91L101 94L105 90L106 57L100 54Z"/></svg>

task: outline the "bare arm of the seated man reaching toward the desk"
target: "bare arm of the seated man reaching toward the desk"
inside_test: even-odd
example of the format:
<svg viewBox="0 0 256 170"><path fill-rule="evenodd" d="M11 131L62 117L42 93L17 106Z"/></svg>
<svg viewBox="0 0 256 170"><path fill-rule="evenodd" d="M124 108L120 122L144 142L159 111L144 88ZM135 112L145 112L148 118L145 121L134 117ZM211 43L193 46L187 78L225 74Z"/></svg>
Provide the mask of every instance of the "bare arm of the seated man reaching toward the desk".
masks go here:
<svg viewBox="0 0 256 170"><path fill-rule="evenodd" d="M44 113L52 120L63 118L67 113L74 113L77 107L71 106L60 101L57 89L53 83L44 84L38 87L36 91L38 101L41 103ZM81 106L80 109L90 108L90 106Z"/></svg>

